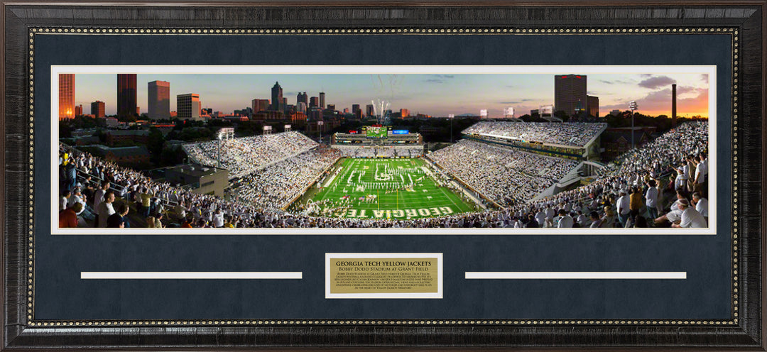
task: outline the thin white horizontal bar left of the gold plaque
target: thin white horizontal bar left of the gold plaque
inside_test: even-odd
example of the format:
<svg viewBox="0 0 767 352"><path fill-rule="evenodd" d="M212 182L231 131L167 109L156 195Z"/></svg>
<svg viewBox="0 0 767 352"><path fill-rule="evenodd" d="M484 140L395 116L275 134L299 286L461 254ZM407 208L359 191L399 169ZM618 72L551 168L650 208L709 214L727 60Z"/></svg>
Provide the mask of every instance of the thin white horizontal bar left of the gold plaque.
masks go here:
<svg viewBox="0 0 767 352"><path fill-rule="evenodd" d="M81 279L303 278L303 271L81 271Z"/></svg>

